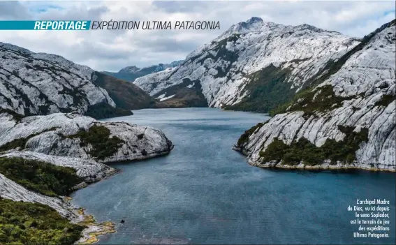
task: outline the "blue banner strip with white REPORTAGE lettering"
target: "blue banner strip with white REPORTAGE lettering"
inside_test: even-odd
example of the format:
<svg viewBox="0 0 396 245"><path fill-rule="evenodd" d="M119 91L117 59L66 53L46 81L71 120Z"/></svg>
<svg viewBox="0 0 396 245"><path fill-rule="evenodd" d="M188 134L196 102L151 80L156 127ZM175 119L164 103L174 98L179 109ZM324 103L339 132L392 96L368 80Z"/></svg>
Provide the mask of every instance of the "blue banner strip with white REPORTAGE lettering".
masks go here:
<svg viewBox="0 0 396 245"><path fill-rule="evenodd" d="M0 30L89 30L90 20L0 20Z"/></svg>

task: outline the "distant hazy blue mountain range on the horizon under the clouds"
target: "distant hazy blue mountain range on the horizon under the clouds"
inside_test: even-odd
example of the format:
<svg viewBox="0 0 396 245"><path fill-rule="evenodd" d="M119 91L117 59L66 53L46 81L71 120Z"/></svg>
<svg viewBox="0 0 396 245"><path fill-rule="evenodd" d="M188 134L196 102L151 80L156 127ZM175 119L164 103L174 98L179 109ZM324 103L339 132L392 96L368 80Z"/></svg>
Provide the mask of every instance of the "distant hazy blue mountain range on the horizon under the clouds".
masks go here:
<svg viewBox="0 0 396 245"><path fill-rule="evenodd" d="M133 82L138 77L142 77L152 73L158 73L159 71L166 70L167 68L173 68L179 66L179 64L181 63L182 61L173 61L170 64L158 64L158 65L148 66L145 68L138 68L136 66L126 66L125 68L119 70L117 73L112 73L110 71L102 71L102 73L105 73L107 75L112 75L113 77L117 77L122 80Z"/></svg>

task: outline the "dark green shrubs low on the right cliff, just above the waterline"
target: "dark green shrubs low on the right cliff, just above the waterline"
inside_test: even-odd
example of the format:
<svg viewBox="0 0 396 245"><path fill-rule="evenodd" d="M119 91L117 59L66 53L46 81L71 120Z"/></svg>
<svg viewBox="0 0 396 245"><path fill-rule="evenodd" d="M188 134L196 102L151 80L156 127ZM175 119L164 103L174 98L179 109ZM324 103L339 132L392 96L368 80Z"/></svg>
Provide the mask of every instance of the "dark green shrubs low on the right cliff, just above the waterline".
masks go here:
<svg viewBox="0 0 396 245"><path fill-rule="evenodd" d="M294 140L290 145L274 138L267 149L260 152L260 156L263 158L263 163L282 161L282 164L286 165L298 165L301 161L305 165L317 165L324 160L330 160L331 163L337 161L352 163L356 160L355 152L359 149L360 143L367 142L369 131L367 128L361 128L360 132L353 132L354 128L351 126L338 128L346 135L344 140L337 142L328 139L321 147L316 147L306 138Z"/></svg>

